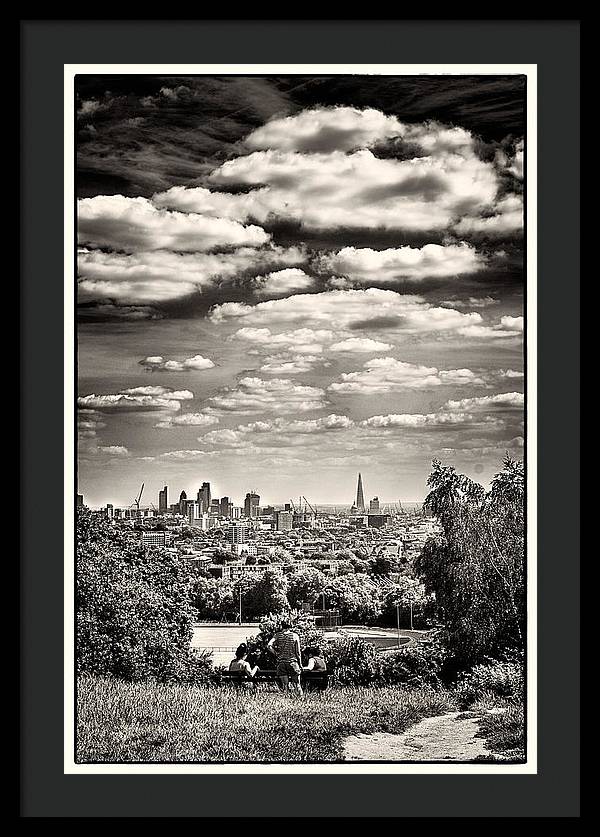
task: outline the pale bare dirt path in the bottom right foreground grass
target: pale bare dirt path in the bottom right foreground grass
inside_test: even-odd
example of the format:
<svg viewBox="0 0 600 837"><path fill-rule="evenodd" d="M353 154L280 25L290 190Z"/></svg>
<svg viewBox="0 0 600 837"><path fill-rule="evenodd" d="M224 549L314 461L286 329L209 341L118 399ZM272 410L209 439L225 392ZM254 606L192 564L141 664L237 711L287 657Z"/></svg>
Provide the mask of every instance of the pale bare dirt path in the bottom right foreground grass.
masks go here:
<svg viewBox="0 0 600 837"><path fill-rule="evenodd" d="M346 761L473 761L491 758L479 732L477 718L448 712L424 718L400 735L377 732L353 735L344 742Z"/></svg>

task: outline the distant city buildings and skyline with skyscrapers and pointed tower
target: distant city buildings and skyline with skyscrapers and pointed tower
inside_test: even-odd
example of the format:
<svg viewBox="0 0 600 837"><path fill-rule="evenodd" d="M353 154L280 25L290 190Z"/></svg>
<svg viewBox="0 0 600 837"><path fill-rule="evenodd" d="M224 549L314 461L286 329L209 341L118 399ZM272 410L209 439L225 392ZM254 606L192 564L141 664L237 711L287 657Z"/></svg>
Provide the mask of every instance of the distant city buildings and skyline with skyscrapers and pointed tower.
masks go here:
<svg viewBox="0 0 600 837"><path fill-rule="evenodd" d="M341 557L353 553L363 559L387 558L392 565L409 563L437 531L436 521L418 504L365 502L361 474L351 507L311 504L305 497L283 506L261 506L252 490L243 506L229 497L213 498L203 482L195 499L185 491L169 503L168 486L158 492L158 506L142 506L143 485L127 508L108 503L95 513L114 526L139 531L146 547L161 547L180 555L215 578L235 580L260 573L281 560L337 573ZM78 506L84 505L77 495Z"/></svg>

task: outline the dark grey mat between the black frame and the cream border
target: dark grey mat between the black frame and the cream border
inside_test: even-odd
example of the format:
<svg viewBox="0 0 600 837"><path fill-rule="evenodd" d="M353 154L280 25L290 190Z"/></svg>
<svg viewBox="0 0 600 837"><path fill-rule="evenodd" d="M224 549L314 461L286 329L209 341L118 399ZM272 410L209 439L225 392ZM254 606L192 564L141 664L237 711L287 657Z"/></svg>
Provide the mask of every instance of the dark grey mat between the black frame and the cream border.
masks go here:
<svg viewBox="0 0 600 837"><path fill-rule="evenodd" d="M537 775L63 774L63 65L156 61L537 64ZM21 21L21 136L21 816L578 816L579 22Z"/></svg>

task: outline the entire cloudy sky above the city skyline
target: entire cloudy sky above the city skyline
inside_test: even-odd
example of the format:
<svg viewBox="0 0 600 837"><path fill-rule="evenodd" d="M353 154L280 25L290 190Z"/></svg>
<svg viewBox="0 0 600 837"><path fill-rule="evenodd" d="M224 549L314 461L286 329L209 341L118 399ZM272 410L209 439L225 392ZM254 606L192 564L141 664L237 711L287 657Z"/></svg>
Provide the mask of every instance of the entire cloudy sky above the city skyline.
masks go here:
<svg viewBox="0 0 600 837"><path fill-rule="evenodd" d="M523 451L522 76L76 79L78 490L421 500Z"/></svg>

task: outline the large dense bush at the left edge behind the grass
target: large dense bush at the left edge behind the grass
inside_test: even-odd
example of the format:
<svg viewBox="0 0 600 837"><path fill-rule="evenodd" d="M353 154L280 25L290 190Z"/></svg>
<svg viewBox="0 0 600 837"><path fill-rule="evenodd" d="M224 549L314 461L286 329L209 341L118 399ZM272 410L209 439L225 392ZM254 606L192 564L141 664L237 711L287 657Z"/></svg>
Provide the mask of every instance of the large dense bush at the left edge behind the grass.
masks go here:
<svg viewBox="0 0 600 837"><path fill-rule="evenodd" d="M193 576L82 510L77 519L77 670L127 680L195 680L208 660L190 649Z"/></svg>

